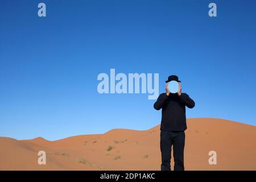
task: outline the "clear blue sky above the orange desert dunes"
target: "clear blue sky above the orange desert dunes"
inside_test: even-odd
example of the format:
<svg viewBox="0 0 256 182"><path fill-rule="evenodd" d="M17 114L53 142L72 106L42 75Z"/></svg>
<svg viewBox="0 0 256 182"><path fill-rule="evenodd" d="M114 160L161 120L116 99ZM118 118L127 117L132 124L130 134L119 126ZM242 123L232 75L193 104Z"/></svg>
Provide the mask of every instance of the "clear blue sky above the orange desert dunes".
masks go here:
<svg viewBox="0 0 256 182"><path fill-rule="evenodd" d="M38 3L47 17L38 17ZM210 2L217 17L208 16ZM97 76L178 75L187 118L256 125L256 1L10 1L0 4L0 136L55 140L150 129L147 94L99 94Z"/></svg>

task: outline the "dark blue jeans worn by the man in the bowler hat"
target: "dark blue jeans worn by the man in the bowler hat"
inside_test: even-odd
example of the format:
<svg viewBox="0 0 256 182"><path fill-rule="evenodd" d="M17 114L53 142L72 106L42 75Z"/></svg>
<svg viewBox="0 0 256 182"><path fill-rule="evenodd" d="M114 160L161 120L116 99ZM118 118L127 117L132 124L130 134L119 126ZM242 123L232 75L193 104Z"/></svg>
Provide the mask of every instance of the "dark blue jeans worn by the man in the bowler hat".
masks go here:
<svg viewBox="0 0 256 182"><path fill-rule="evenodd" d="M160 131L161 171L171 171L171 147L174 151L174 171L184 171L184 131Z"/></svg>

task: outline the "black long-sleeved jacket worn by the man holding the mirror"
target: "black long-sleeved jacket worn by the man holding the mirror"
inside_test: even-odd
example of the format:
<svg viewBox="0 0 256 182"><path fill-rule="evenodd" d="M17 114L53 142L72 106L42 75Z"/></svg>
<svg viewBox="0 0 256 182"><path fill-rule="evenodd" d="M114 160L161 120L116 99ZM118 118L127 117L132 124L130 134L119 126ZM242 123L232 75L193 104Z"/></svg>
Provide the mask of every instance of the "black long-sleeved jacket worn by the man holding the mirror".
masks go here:
<svg viewBox="0 0 256 182"><path fill-rule="evenodd" d="M160 94L158 100L154 104L156 110L162 109L162 121L160 130L164 131L184 131L187 129L186 123L186 110L193 108L195 102L189 98L188 94L181 93L180 96L177 94L170 93L169 96L166 93Z"/></svg>

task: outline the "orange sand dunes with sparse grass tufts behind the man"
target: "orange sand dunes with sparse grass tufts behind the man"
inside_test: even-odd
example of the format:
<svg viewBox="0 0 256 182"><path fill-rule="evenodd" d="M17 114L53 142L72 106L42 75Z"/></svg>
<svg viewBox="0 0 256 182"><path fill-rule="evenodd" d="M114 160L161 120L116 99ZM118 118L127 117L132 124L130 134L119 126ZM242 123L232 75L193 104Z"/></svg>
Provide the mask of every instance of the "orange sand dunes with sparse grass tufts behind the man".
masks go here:
<svg viewBox="0 0 256 182"><path fill-rule="evenodd" d="M256 170L256 127L224 119L187 119L186 170ZM114 129L56 141L0 137L1 170L159 170L159 125ZM46 165L38 151L46 151ZM217 165L208 163L217 152ZM173 166L173 163L172 163Z"/></svg>

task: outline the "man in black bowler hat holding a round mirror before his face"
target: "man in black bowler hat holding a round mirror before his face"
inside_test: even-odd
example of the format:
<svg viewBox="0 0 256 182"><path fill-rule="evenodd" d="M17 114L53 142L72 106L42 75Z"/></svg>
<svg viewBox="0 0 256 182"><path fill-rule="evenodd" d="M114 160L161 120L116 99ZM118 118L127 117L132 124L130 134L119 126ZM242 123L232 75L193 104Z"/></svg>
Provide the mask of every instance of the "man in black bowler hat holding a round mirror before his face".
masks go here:
<svg viewBox="0 0 256 182"><path fill-rule="evenodd" d="M170 93L168 83L172 80L179 82L179 91ZM171 75L166 81L166 93L160 94L154 104L156 110L162 109L162 121L160 126L160 150L162 155L162 171L171 170L171 147L174 151L174 170L184 171L184 146L187 129L185 106L193 108L195 102L188 94L181 93L181 84L176 75Z"/></svg>

